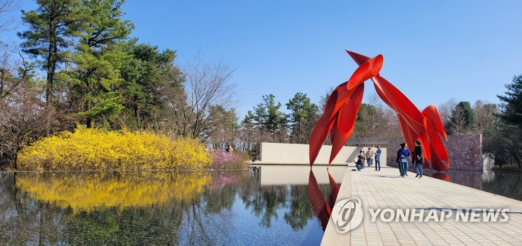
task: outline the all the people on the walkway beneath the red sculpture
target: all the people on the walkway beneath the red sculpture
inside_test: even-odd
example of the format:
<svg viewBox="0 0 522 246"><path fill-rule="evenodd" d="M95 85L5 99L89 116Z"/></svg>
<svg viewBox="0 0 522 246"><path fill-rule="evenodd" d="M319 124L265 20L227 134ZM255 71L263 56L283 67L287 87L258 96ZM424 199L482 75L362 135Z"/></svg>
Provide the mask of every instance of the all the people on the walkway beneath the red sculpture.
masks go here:
<svg viewBox="0 0 522 246"><path fill-rule="evenodd" d="M424 164L424 150L421 145L421 141L415 141L415 149L413 152L410 152L408 149L408 144L401 143L400 149L397 151L397 158L395 162L399 164L399 171L401 177L408 176L409 163L413 159L413 170L417 173L416 178L422 178L422 165ZM368 151L364 152L361 150L359 155L357 156L357 163L355 163L355 167L357 170L362 170L364 168L364 163L368 164L368 167L372 166L372 158L375 159L375 171L381 170L381 146L377 145L377 151L374 153L372 148L369 147ZM355 169L353 169L355 170Z"/></svg>

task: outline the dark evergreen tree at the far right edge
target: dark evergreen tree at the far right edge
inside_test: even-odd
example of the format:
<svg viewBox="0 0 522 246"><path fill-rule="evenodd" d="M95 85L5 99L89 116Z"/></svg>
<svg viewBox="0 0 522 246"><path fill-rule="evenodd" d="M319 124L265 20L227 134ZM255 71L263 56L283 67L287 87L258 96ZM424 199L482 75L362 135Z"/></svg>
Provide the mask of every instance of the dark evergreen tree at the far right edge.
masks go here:
<svg viewBox="0 0 522 246"><path fill-rule="evenodd" d="M522 75L515 76L513 83L505 87L506 95L497 95L503 109L500 117L508 125L522 126Z"/></svg>

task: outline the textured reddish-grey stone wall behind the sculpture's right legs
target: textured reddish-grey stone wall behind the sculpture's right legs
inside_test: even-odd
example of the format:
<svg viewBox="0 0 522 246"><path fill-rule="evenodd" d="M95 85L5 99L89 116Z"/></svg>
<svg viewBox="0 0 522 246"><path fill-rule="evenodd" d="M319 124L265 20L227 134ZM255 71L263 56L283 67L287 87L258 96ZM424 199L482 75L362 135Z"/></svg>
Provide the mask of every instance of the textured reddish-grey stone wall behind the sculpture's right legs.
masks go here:
<svg viewBox="0 0 522 246"><path fill-rule="evenodd" d="M397 166L395 163L395 156L397 150L400 148L399 144L404 143L403 138L386 138L386 139L375 139L375 138L350 138L348 145L357 142L388 142L387 144L379 144L382 147L388 148L388 156L386 164L388 166ZM463 170L482 170L482 135L462 135L462 136L448 136L448 141L443 140L446 150L448 151L448 157L450 166L449 169L463 169ZM365 144L371 146L371 144ZM377 144L374 144L377 145ZM413 151L414 146L409 146L410 150Z"/></svg>

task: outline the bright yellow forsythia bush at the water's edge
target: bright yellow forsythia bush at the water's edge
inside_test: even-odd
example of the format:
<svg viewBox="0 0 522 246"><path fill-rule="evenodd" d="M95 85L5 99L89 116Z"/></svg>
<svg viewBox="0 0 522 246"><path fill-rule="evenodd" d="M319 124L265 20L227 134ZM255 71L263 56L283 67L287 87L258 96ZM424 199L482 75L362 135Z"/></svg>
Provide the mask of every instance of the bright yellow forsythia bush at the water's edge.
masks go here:
<svg viewBox="0 0 522 246"><path fill-rule="evenodd" d="M20 170L205 169L212 155L194 139L78 127L44 138L18 155Z"/></svg>

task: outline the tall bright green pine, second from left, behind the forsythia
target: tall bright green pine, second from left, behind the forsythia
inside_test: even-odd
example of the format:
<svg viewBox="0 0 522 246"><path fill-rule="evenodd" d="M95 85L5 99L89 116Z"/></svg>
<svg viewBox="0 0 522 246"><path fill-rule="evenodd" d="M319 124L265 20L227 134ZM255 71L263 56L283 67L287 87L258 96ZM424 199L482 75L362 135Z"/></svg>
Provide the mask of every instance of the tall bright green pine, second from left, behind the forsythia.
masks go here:
<svg viewBox="0 0 522 246"><path fill-rule="evenodd" d="M90 127L93 120L112 123L120 116L123 97L116 88L123 82L120 69L132 55L126 54L121 41L127 39L134 25L122 20L118 0L82 0L87 24L72 60L76 67L64 71L71 86L69 103L80 119ZM113 124L110 124L113 125Z"/></svg>

